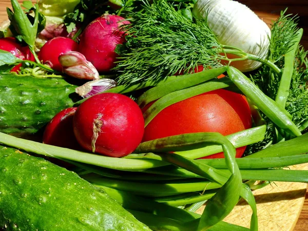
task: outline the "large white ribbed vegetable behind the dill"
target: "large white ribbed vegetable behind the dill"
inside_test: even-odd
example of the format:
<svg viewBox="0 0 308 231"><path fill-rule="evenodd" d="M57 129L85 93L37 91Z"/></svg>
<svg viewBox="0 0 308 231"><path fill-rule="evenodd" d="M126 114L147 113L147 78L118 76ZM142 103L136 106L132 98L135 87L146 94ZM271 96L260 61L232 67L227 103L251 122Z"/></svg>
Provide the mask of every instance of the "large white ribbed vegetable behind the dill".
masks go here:
<svg viewBox="0 0 308 231"><path fill-rule="evenodd" d="M232 0L199 0L192 13L207 19L207 25L221 44L266 57L271 30L245 5ZM245 60L231 65L246 72L257 69L261 63Z"/></svg>

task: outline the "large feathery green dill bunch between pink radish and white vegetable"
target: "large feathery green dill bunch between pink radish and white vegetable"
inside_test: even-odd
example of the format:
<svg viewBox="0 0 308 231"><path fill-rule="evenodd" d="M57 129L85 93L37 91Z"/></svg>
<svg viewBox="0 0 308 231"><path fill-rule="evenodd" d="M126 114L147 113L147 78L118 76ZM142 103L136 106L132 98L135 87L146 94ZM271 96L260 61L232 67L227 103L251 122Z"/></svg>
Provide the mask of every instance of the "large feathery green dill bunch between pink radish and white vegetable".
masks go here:
<svg viewBox="0 0 308 231"><path fill-rule="evenodd" d="M192 22L166 1L141 1L142 9L127 12L127 43L115 70L120 84L162 80L198 65L221 66L220 44L206 23Z"/></svg>

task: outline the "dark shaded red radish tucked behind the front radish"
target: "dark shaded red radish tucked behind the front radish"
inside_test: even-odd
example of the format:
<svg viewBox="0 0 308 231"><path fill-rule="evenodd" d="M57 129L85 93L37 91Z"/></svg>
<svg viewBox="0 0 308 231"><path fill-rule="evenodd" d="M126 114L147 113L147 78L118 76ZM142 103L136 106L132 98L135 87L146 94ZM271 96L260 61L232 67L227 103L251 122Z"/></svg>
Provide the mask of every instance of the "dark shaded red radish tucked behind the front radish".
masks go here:
<svg viewBox="0 0 308 231"><path fill-rule="evenodd" d="M81 149L73 131L73 117L76 109L76 107L64 109L53 117L45 128L43 143L75 150Z"/></svg>

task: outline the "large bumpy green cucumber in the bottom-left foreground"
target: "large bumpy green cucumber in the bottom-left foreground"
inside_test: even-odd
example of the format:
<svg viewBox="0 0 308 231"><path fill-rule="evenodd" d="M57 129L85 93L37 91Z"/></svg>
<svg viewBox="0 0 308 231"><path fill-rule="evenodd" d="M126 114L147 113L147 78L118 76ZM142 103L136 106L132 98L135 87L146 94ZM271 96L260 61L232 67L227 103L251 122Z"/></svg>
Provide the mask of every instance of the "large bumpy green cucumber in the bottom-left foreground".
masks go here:
<svg viewBox="0 0 308 231"><path fill-rule="evenodd" d="M150 230L74 172L0 146L0 229Z"/></svg>

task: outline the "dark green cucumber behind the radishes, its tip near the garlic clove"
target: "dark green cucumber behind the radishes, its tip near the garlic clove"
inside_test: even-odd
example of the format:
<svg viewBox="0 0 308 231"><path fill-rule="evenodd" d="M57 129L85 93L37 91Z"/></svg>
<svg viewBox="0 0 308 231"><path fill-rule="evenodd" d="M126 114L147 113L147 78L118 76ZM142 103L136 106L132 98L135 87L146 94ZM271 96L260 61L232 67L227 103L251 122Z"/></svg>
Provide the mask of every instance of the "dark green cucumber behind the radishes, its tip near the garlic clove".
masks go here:
<svg viewBox="0 0 308 231"><path fill-rule="evenodd" d="M64 79L0 74L0 131L19 137L37 132L80 100L75 87Z"/></svg>

